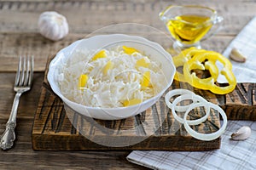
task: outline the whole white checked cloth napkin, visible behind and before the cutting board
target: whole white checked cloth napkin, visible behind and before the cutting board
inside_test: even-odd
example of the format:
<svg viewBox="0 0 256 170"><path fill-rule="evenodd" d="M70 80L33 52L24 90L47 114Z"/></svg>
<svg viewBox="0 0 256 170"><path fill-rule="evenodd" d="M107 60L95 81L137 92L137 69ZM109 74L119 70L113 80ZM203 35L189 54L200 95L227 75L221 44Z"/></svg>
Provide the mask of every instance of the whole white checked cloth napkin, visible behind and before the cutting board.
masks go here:
<svg viewBox="0 0 256 170"><path fill-rule="evenodd" d="M230 42L224 51L229 57L232 48L247 56L246 63L232 62L237 82L256 82L256 17ZM225 82L224 79L218 80ZM231 133L249 126L252 135L243 141L230 140ZM221 138L221 148L212 151L140 151L134 150L127 160L152 169L256 169L256 122L229 121Z"/></svg>

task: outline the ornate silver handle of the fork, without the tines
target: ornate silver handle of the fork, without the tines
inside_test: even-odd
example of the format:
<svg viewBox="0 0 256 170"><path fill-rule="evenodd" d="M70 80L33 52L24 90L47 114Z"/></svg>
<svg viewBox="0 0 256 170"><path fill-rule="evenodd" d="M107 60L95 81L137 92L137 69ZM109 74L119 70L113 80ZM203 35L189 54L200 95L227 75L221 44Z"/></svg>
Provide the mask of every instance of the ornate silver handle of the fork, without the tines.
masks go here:
<svg viewBox="0 0 256 170"><path fill-rule="evenodd" d="M1 136L0 147L3 150L10 149L13 146L14 141L15 141L16 116L17 116L18 105L20 102L20 95L21 95L21 93L19 93L19 92L15 94L12 111L9 115L8 122L6 123L5 131L3 132L2 136Z"/></svg>

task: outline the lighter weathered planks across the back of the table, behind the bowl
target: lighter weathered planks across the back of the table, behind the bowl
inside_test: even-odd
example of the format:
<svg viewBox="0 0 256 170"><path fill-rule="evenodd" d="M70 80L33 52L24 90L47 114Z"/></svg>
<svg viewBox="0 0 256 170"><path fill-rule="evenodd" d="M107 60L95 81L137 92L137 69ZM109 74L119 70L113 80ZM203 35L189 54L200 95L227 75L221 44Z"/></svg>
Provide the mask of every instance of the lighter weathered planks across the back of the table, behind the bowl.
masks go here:
<svg viewBox="0 0 256 170"><path fill-rule="evenodd" d="M229 42L241 31L255 14L253 1L247 3L230 1L194 1L216 8L224 16L221 31L209 40L203 48L223 52ZM158 14L169 1L18 1L0 2L0 71L15 71L13 62L20 54L35 56L35 70L44 71L46 60L68 44L88 36L104 26L119 23L138 23L153 26L167 33ZM188 1L173 1L172 4L191 4ZM247 8L247 13L237 8ZM67 10L68 9L68 10ZM56 10L67 17L70 33L59 42L52 42L38 33L38 17L46 10ZM149 17L150 16L150 17ZM129 31L125 31L129 33ZM216 41L218 40L218 41ZM161 42L166 45L170 42Z"/></svg>

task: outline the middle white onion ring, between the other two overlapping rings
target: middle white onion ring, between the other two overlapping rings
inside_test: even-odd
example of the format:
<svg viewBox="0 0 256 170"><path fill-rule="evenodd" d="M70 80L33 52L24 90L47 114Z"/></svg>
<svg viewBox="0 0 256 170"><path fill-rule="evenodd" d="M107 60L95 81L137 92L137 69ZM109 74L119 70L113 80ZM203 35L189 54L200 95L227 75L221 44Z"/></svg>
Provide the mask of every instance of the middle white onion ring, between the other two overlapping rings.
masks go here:
<svg viewBox="0 0 256 170"><path fill-rule="evenodd" d="M191 121L186 120L186 122L189 125L198 125L201 122L205 122L207 120L207 117L210 115L210 107L208 106L208 104L207 104L208 102L207 102L206 99L204 99L201 96L196 95L196 94L183 94L183 95L181 95L181 96L179 96L179 97L177 97L176 99L173 100L173 102L172 102L172 115L177 120L177 122L183 123L185 118L181 118L180 116L177 116L177 113L176 113L174 108L175 108L175 106L177 105L178 102L180 102L182 100L185 100L185 99L192 99L193 101L199 101L199 103L196 102L194 104L186 105L188 107L186 112L192 110L191 105L193 105L193 106L194 105L204 106L207 109L205 116L202 116L201 118L196 119L196 120L191 120ZM195 106L194 106L194 108L195 108Z"/></svg>

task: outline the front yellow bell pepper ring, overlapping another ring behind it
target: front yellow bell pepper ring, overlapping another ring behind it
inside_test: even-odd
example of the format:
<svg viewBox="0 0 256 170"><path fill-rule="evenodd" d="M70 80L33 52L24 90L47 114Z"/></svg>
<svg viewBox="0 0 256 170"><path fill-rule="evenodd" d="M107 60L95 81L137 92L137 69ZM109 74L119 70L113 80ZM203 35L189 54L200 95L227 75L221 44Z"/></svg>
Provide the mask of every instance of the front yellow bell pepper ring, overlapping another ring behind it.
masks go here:
<svg viewBox="0 0 256 170"><path fill-rule="evenodd" d="M216 65L217 60L224 65L224 68L220 73L227 79L229 86L219 87L214 83L214 77L201 79L196 77L195 73L190 73L191 70L202 67L201 63L206 59L208 60L206 62L208 65L207 67ZM195 55L193 59L189 59L189 61L183 65L183 75L187 82L195 88L207 89L215 94L228 94L236 88L236 77L232 72L232 65L229 59L226 59L223 55L216 52L198 54Z"/></svg>

